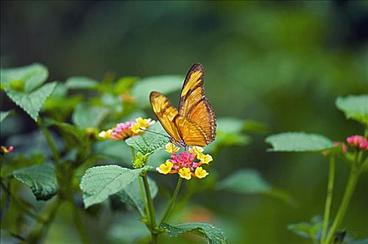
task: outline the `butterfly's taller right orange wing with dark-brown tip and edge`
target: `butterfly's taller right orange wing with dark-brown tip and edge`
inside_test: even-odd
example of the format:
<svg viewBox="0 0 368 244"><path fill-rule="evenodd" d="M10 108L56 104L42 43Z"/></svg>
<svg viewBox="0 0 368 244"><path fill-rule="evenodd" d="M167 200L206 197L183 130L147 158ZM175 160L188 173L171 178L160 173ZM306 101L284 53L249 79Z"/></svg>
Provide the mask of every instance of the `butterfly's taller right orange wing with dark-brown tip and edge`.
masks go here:
<svg viewBox="0 0 368 244"><path fill-rule="evenodd" d="M216 137L216 116L204 94L204 68L200 63L194 63L185 77L179 114L190 122L182 124L191 130L178 126L185 144L206 146L213 142Z"/></svg>

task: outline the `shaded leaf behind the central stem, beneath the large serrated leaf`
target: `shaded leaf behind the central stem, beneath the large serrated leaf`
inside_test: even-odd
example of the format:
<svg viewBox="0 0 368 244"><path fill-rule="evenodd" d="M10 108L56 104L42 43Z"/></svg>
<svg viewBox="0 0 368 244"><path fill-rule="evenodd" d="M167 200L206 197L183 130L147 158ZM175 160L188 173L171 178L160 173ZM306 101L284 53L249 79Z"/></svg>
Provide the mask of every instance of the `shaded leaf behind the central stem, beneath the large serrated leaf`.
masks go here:
<svg viewBox="0 0 368 244"><path fill-rule="evenodd" d="M158 187L151 178L148 178L151 196L154 198L158 193ZM143 186L143 185L142 185ZM127 185L123 190L116 194L120 201L125 204L137 208L140 213L144 213L144 202L141 196L141 188L139 186L139 178L136 178L132 183Z"/></svg>

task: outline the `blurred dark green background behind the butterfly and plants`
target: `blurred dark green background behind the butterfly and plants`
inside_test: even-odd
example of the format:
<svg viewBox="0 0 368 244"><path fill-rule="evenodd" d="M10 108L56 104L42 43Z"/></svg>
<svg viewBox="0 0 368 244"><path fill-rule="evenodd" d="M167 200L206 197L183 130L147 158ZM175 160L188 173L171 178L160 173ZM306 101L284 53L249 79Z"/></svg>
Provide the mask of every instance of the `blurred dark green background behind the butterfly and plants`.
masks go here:
<svg viewBox="0 0 368 244"><path fill-rule="evenodd" d="M223 192L202 192L192 203L206 209L229 243L308 243L286 226L323 214L327 161L317 154L268 153L264 138L300 130L336 141L362 134L335 109L335 98L368 92L367 26L367 1L1 1L1 68L37 61L49 68L49 80L63 81L185 75L192 63L202 63L217 117L270 127L251 135L249 145L222 151L215 159L220 178L258 169L298 204ZM3 110L15 108L1 100ZM34 128L24 116L14 130ZM347 174L338 162L335 199ZM344 220L360 238L368 236L367 189L363 174ZM45 243L78 242L64 211ZM105 236L104 221L86 218L96 236Z"/></svg>

